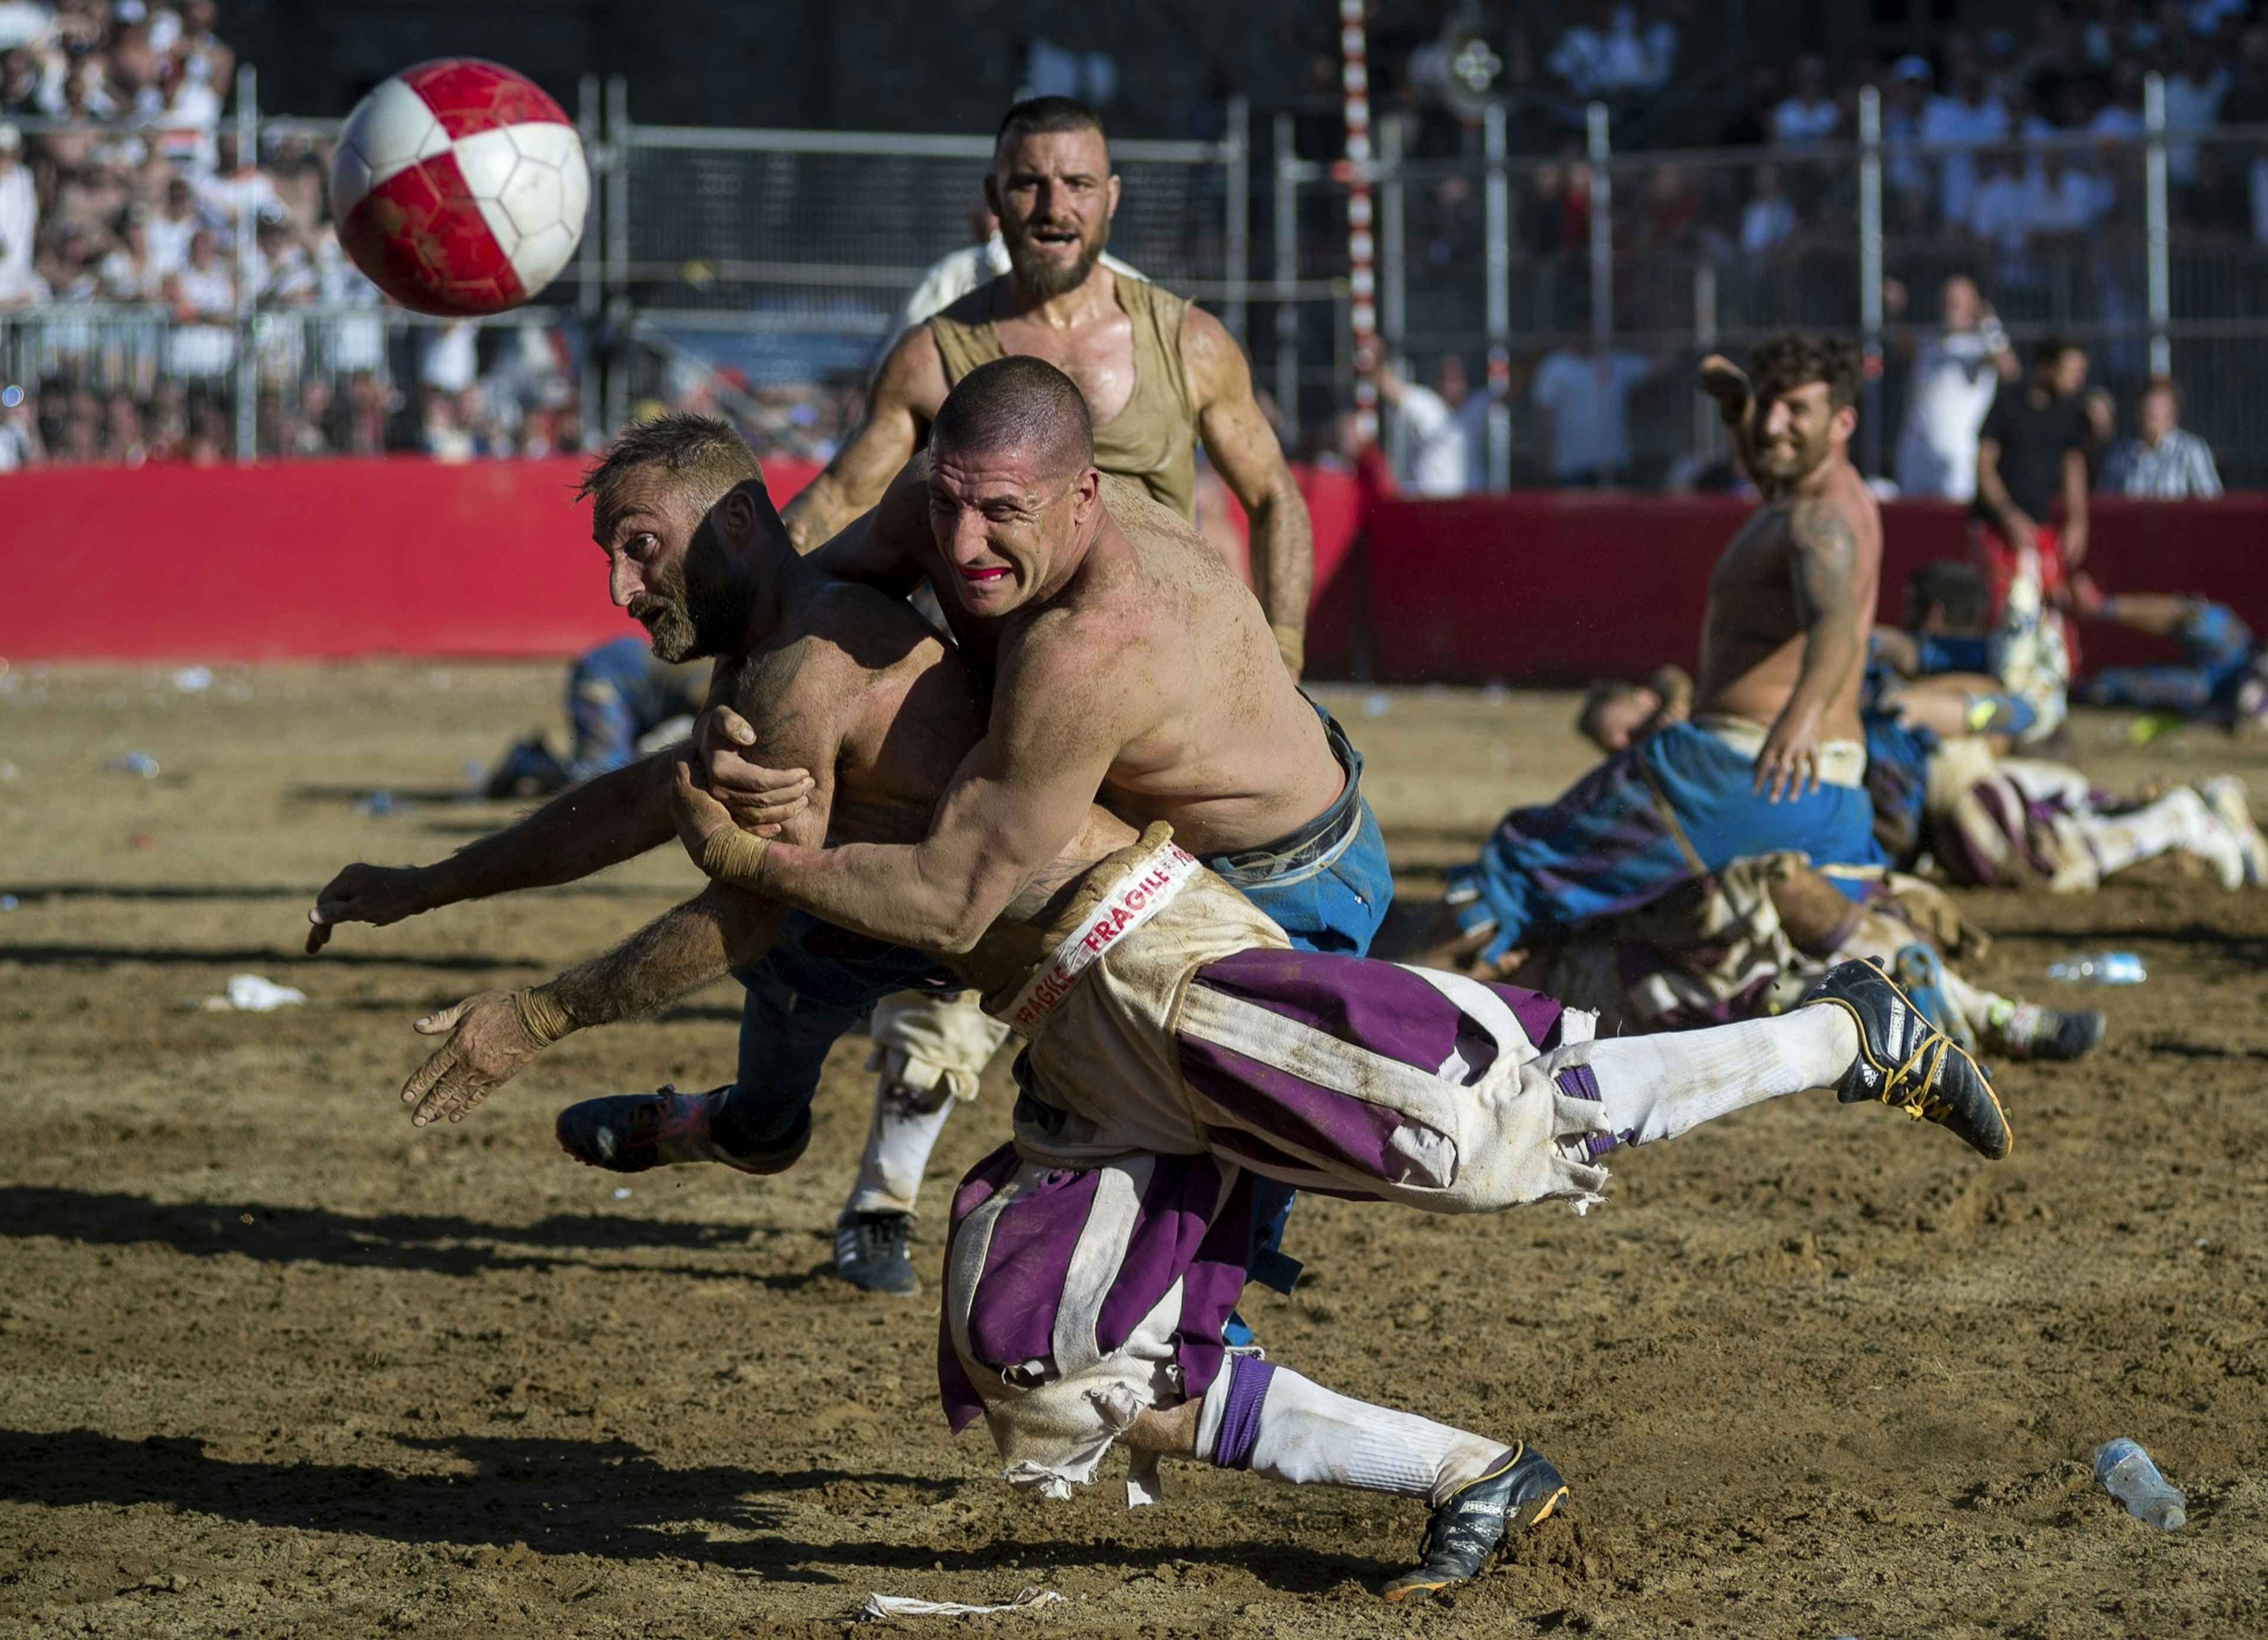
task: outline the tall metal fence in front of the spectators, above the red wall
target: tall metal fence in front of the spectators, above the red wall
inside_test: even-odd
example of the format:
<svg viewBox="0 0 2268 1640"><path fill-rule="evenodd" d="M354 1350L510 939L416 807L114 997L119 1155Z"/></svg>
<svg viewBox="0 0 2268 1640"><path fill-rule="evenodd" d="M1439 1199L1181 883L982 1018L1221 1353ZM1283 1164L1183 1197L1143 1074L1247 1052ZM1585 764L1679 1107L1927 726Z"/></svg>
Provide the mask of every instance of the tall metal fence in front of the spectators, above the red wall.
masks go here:
<svg viewBox="0 0 2268 1640"><path fill-rule="evenodd" d="M2170 370L2229 483L2268 485L2268 129L2168 132L2155 84L2141 129L2112 136L1923 150L1885 141L1871 95L1862 111L1855 143L1617 152L1594 109L1588 143L1551 157L1510 154L1497 113L1454 157L1411 157L1404 125L1381 120L1368 181L1397 374L1465 363L1492 485L1692 483L1724 458L1694 361L1826 327L1869 347L1860 447L1889 472L1907 361L1935 331L1937 288L1966 272L2019 345L2080 340L2121 399ZM460 454L465 429L438 436L422 413L467 379L515 447L581 447L649 401L703 397L773 449L823 454L841 429L798 422L807 406L787 383L848 397L864 381L921 272L971 243L991 152L982 136L637 125L621 79L583 84L578 127L594 206L544 306L467 329L345 302L342 284L274 299L247 218L234 311L0 308L0 374L61 392L75 426L82 395L98 417L118 397L150 417L163 406L200 449L240 460L306 445L311 404L342 429L327 447ZM236 132L259 152L336 125L263 120L247 70ZM1114 254L1245 340L1288 447L1340 438L1354 386L1345 161L1300 154L1288 113L1254 132L1241 102L1220 141L1127 141L1114 157ZM1953 179L2089 204L2062 229L1980 234L1948 209ZM1547 406L1565 417L1554 383L1585 370L1626 413L1628 451L1569 470Z"/></svg>

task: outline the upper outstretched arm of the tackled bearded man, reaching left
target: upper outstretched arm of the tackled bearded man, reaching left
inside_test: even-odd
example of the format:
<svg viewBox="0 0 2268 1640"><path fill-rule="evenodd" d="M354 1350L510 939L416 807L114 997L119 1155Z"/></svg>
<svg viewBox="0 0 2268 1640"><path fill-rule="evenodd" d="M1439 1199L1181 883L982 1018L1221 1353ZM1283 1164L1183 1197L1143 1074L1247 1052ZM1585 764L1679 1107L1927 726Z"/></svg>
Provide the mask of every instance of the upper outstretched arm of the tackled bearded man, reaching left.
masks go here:
<svg viewBox="0 0 2268 1640"><path fill-rule="evenodd" d="M429 867L352 864L315 896L306 950L338 923L386 928L458 901L576 882L669 842L669 760L651 758L560 792L526 819Z"/></svg>

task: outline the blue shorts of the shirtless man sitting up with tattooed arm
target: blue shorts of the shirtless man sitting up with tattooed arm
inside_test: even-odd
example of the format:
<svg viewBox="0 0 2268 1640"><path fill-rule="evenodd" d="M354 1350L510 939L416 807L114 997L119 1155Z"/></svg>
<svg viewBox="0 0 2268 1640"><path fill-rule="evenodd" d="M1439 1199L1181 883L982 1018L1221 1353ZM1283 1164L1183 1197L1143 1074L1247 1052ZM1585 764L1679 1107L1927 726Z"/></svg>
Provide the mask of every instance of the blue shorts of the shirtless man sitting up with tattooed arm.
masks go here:
<svg viewBox="0 0 2268 1640"><path fill-rule="evenodd" d="M1873 803L1823 785L1769 803L1755 762L1692 724L1669 724L1608 758L1558 803L1513 810L1470 867L1449 873L1467 935L1495 960L1538 935L1628 912L1746 855L1801 848L1814 867L1885 864ZM1857 898L1864 885L1835 878Z"/></svg>

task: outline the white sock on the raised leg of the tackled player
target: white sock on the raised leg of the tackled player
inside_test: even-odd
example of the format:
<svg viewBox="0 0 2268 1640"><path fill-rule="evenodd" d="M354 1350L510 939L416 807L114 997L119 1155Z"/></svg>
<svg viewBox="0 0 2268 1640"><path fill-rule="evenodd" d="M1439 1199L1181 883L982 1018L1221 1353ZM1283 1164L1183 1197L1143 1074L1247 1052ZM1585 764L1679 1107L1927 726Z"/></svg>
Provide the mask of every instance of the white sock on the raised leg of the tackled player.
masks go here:
<svg viewBox="0 0 2268 1640"><path fill-rule="evenodd" d="M1590 1073L1606 1125L1642 1146L1785 1093L1833 1087L1855 1057L1848 1014L1799 1007L1712 1030L1608 1037L1590 1050Z"/></svg>

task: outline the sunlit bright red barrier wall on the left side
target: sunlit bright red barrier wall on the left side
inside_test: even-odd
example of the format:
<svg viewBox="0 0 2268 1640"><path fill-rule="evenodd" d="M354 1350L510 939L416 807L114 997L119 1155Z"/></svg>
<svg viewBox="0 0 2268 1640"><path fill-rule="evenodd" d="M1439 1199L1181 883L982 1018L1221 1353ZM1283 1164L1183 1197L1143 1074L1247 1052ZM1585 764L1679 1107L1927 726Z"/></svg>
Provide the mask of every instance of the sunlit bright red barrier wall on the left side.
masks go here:
<svg viewBox="0 0 2268 1640"><path fill-rule="evenodd" d="M565 656L637 633L606 601L583 463L420 458L50 467L0 479L0 656L324 660ZM767 460L773 501L812 463ZM1302 472L1318 585L1354 479Z"/></svg>

